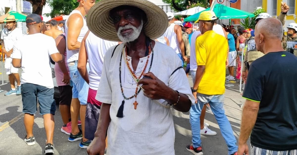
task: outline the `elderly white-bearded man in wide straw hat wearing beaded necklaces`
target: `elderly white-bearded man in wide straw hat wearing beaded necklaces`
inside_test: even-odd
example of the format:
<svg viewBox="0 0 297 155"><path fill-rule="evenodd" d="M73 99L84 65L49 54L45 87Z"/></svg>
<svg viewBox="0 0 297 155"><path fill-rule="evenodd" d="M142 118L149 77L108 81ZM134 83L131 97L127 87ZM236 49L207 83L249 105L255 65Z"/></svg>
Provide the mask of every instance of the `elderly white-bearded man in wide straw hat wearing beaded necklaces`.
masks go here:
<svg viewBox="0 0 297 155"><path fill-rule="evenodd" d="M102 39L123 42L105 54L96 95L101 113L88 154L104 154L108 129L109 155L174 155L170 107L187 112L195 101L180 58L154 41L167 29L165 12L146 0L102 0L87 25Z"/></svg>

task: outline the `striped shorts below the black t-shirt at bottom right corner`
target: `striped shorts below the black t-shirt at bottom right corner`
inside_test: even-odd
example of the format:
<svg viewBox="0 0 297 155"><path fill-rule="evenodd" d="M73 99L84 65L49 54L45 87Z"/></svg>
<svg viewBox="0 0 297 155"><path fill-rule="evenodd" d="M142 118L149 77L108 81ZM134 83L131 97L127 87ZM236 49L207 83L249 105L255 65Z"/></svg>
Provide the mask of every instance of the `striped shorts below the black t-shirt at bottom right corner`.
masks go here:
<svg viewBox="0 0 297 155"><path fill-rule="evenodd" d="M297 155L297 150L271 151L251 145L251 155Z"/></svg>

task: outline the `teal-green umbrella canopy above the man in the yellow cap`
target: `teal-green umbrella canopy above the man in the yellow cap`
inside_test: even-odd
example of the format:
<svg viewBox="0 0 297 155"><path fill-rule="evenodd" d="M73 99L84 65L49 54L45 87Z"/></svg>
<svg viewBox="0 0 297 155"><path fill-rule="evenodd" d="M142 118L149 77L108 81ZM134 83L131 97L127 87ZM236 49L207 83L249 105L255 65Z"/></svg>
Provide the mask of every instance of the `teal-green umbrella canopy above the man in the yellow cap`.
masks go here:
<svg viewBox="0 0 297 155"><path fill-rule="evenodd" d="M204 11L208 11L208 10L210 10L210 8L208 8ZM222 4L216 4L214 6L213 11L219 19L239 19L239 18L247 18L247 17L251 18L251 17L255 16L252 13L238 10L235 8L231 8L231 7L222 5ZM203 11L201 11L201 12L203 12ZM201 12L198 12L196 14L193 14L192 16L185 18L184 21L185 22L196 21L199 18Z"/></svg>

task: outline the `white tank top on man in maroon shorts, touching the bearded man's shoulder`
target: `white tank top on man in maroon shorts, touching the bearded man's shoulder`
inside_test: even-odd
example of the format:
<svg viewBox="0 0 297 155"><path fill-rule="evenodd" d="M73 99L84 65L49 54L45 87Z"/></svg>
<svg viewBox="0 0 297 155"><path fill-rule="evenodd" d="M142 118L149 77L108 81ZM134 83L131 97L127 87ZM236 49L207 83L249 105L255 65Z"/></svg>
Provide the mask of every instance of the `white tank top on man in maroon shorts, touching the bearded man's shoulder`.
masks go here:
<svg viewBox="0 0 297 155"><path fill-rule="evenodd" d="M92 32L86 38L86 50L90 66L89 87L93 90L97 90L99 87L105 53L114 45L118 45L118 42L103 40Z"/></svg>

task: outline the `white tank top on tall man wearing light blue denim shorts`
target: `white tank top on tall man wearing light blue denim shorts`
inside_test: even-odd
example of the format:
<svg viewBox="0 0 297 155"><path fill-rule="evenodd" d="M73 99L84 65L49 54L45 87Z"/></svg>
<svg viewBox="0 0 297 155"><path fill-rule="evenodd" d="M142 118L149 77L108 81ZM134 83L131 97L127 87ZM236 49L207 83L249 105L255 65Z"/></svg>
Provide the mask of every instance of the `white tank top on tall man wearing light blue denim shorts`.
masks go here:
<svg viewBox="0 0 297 155"><path fill-rule="evenodd" d="M69 14L69 17L72 14L80 14L83 17L83 15L78 10L73 10ZM68 37L68 26L67 26L68 19L66 19L66 21L65 21L65 23L66 23L65 24L66 41L67 41L67 37ZM83 40L83 37L88 32L88 30L89 29L88 29L88 26L87 26L86 18L83 17L83 27L81 28L80 33L78 35L78 38L77 38L78 42L81 42ZM67 46L67 43L66 43L66 46ZM67 63L78 60L78 51L79 50L68 50L68 47L66 48L66 50L67 50Z"/></svg>

